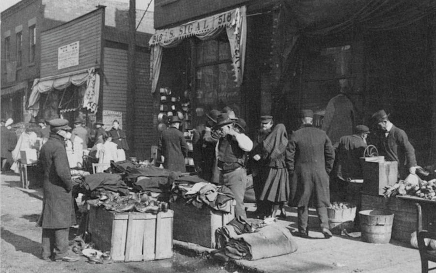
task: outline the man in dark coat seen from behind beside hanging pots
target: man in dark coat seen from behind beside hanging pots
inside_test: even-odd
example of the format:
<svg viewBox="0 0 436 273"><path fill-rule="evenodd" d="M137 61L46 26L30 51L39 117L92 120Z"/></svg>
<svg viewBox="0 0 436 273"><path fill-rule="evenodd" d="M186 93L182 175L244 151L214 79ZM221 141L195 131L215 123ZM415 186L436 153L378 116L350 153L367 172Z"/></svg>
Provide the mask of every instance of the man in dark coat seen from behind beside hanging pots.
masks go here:
<svg viewBox="0 0 436 273"><path fill-rule="evenodd" d="M185 136L179 130L181 122L178 116L170 117L168 129L160 135L159 148L164 156L164 168L186 172L185 155L188 147Z"/></svg>

